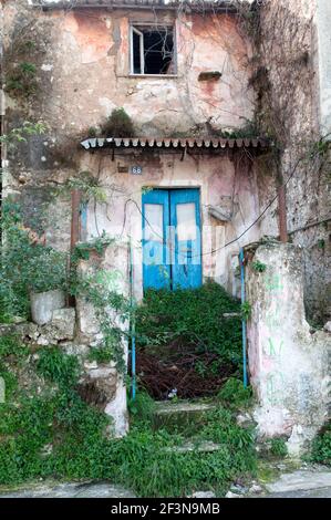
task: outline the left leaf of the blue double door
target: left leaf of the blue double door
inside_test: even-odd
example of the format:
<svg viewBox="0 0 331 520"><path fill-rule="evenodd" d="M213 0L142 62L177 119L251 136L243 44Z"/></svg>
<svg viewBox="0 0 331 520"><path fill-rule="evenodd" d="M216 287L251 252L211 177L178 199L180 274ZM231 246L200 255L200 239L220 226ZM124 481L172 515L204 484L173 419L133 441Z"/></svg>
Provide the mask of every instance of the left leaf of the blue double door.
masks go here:
<svg viewBox="0 0 331 520"><path fill-rule="evenodd" d="M170 288L170 266L167 261L167 227L169 195L154 189L143 195L143 278L144 289Z"/></svg>

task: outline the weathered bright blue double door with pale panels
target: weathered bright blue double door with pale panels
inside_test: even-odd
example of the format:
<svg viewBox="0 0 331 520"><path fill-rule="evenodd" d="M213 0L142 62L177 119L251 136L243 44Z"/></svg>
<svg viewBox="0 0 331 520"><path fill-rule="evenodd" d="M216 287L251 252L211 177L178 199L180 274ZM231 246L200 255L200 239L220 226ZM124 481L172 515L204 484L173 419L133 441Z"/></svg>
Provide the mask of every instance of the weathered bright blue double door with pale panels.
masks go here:
<svg viewBox="0 0 331 520"><path fill-rule="evenodd" d="M199 190L147 190L142 212L144 289L200 287Z"/></svg>

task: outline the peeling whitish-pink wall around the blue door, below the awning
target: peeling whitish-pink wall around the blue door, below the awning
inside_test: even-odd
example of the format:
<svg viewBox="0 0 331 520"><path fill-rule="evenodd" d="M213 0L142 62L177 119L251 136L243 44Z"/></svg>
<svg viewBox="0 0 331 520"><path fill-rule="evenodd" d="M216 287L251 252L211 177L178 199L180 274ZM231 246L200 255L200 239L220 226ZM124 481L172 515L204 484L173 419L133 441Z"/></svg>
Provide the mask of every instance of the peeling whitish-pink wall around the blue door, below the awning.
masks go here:
<svg viewBox="0 0 331 520"><path fill-rule="evenodd" d="M241 241L223 249L242 232L259 212L256 196L256 176L251 162L245 153L239 157L189 153L182 160L182 154L159 152L115 152L114 160L106 153L84 154L82 169L99 171L101 185L107 193L108 202L87 209L87 236L95 237L105 230L118 241L133 246L135 297L142 298L142 194L146 187L199 188L203 275L204 280L215 279L237 295L234 279L238 266L239 246L259 237L257 226ZM134 165L142 167L142 175L132 175ZM127 173L118 173L121 168ZM220 222L209 215L208 207L216 206L232 217L230 222ZM213 251L218 250L213 253ZM127 259L123 258L125 262Z"/></svg>

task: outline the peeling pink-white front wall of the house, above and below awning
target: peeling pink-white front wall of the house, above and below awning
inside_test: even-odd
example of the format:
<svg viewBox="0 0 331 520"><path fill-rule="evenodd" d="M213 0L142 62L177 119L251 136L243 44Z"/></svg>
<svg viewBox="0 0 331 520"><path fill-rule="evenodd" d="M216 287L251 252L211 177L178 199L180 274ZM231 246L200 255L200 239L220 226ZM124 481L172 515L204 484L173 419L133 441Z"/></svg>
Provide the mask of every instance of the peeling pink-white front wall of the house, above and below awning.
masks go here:
<svg viewBox="0 0 331 520"><path fill-rule="evenodd" d="M131 23L174 24L176 40L176 74L174 76L133 76L130 74ZM112 12L103 9L55 10L42 12L25 1L9 1L6 6L6 45L30 38L33 27L34 46L41 52L24 60L37 63L37 92L28 98L18 98L7 92L7 124L22 118L42 117L48 126L46 136L33 137L14 154L9 153L6 173L6 193L17 193L27 204L27 218L44 202L52 216L46 228L48 242L69 247L70 206L64 200L53 204L48 197L50 187L56 187L71 175L90 170L101 176L108 193L107 217L105 208L90 208L89 236L102 230L122 238L134 236L138 242L142 219L137 207L126 204L133 198L141 207L143 186L199 187L205 230L204 277L215 278L236 292L234 257L239 245L209 254L240 233L258 215L259 200L252 164L244 152L237 158L204 154L180 155L126 153L115 160L97 153L90 156L80 152L79 143L90 127L100 127L115 107L123 106L132 117L136 134L147 136L208 135L217 128L245 126L254 115L252 89L248 87L250 44L230 14L197 14L141 12L134 10ZM24 29L22 29L24 28ZM18 39L18 42L17 42ZM14 56L20 62L20 55ZM10 65L8 64L10 72ZM215 81L198 81L200 72L219 71ZM139 162L143 176L118 174L117 163L127 167ZM133 187L135 189L132 193ZM34 193L33 198L29 195ZM207 206L218 205L232 214L229 223L208 216ZM55 219L53 218L55 211ZM95 215L94 215L95 214ZM111 215L111 221L108 217ZM54 226L56 220L56 226ZM52 226L54 229L52 230ZM96 229L97 228L97 229ZM58 229L58 231L56 231ZM61 238L61 230L64 233ZM60 231L60 232L59 232ZM259 236L258 227L245 241ZM244 242L245 243L245 242ZM136 291L141 290L141 249L136 247ZM232 267L229 272L230 266Z"/></svg>

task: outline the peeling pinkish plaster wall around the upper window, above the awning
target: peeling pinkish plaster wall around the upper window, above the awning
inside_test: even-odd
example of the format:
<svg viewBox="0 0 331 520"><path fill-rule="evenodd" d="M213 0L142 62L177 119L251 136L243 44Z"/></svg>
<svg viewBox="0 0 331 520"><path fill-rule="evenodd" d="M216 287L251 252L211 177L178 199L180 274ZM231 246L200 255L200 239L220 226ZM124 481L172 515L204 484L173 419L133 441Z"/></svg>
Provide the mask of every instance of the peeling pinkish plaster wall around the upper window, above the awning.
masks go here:
<svg viewBox="0 0 331 520"><path fill-rule="evenodd" d="M42 64L43 75L51 79L51 92L42 93L42 116L59 134L97 126L115 106L124 106L144 134L189 132L209 117L217 127L238 127L252 117L249 45L230 15L179 13L174 20L173 13L153 11L44 13L31 8L20 13L20 4L24 2L9 1L4 10L8 46L12 29L29 18L53 28ZM130 23L144 21L175 23L175 77L130 75ZM199 72L210 69L220 71L221 79L198 82Z"/></svg>

